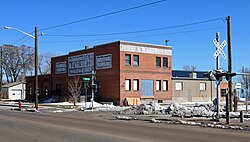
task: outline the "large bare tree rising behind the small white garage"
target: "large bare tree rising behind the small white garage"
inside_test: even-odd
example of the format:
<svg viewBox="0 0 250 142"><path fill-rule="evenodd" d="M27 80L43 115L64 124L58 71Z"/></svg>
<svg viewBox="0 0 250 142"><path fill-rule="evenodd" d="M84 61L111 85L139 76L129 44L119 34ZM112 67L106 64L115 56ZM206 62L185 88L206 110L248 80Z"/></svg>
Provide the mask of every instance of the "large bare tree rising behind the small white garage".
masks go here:
<svg viewBox="0 0 250 142"><path fill-rule="evenodd" d="M23 81L27 73L33 68L33 59L32 47L3 45L2 67L7 82Z"/></svg>

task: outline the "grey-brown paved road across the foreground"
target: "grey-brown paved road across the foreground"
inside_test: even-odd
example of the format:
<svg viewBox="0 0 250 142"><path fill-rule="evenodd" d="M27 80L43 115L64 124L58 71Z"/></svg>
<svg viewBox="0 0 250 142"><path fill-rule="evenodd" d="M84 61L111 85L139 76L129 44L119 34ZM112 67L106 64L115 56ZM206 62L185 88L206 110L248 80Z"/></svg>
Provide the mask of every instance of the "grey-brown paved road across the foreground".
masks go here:
<svg viewBox="0 0 250 142"><path fill-rule="evenodd" d="M122 121L109 112L0 110L0 142L249 142L250 132Z"/></svg>

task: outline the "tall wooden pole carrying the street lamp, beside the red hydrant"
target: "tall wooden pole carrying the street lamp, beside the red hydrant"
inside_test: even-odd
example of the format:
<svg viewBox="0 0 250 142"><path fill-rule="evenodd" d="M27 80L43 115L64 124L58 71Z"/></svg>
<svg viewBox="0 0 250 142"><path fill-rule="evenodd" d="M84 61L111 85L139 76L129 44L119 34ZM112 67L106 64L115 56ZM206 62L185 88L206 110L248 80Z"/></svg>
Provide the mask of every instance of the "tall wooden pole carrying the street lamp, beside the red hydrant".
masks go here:
<svg viewBox="0 0 250 142"><path fill-rule="evenodd" d="M38 30L35 27L35 108L38 110Z"/></svg>

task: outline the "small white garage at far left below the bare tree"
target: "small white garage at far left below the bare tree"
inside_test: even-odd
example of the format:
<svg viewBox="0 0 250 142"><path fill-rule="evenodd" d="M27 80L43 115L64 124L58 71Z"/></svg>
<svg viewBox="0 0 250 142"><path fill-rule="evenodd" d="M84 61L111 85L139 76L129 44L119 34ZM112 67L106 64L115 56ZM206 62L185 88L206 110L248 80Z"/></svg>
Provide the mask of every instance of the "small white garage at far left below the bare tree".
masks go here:
<svg viewBox="0 0 250 142"><path fill-rule="evenodd" d="M9 100L25 99L25 83L14 82L2 86L3 93L7 94Z"/></svg>

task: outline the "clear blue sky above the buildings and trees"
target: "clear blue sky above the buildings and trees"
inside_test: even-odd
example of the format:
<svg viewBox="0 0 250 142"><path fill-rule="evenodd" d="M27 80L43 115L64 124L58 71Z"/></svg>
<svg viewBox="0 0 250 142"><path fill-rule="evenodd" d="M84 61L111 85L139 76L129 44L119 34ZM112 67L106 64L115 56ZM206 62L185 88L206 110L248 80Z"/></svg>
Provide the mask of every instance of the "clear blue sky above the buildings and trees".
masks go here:
<svg viewBox="0 0 250 142"><path fill-rule="evenodd" d="M154 1L157 0L1 0L0 45L19 45L27 39L15 42L24 35L5 30L4 26L32 33L35 26L45 29ZM147 7L45 30L44 36L39 37L39 53L63 55L83 49L85 45L92 47L117 40L164 45L168 39L173 49L173 69L182 69L183 66L189 65L196 66L197 70L211 70L215 68L215 33L221 33L221 41L227 40L226 21L222 19L231 16L233 70L238 71L242 66L250 67L249 7L249 0L166 0ZM51 36L133 32L217 18L222 19L136 34ZM34 46L34 40L30 39L22 44ZM224 51L227 55L227 46ZM221 66L227 69L227 59L221 59Z"/></svg>

